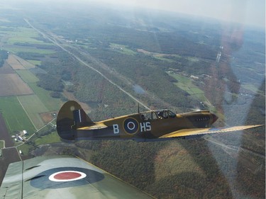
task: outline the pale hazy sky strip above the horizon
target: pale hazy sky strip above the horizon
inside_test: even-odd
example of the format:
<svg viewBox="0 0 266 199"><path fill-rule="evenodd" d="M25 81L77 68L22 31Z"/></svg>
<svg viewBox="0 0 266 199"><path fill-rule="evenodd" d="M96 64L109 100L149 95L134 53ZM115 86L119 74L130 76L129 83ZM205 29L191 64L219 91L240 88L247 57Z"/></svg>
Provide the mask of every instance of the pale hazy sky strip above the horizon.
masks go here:
<svg viewBox="0 0 266 199"><path fill-rule="evenodd" d="M114 8L149 8L192 16L216 18L220 21L241 23L265 29L265 0L2 0L0 4L31 2L52 6L53 4L103 4Z"/></svg>

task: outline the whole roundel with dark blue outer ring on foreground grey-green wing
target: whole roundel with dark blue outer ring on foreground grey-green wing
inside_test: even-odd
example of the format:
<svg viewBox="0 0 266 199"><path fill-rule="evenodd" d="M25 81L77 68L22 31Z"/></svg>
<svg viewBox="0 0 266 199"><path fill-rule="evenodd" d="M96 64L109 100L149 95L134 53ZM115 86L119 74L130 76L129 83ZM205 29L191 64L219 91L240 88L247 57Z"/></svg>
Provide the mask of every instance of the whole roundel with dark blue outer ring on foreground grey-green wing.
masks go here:
<svg viewBox="0 0 266 199"><path fill-rule="evenodd" d="M98 171L79 167L48 169L31 178L31 186L40 189L67 188L96 183L104 179Z"/></svg>

